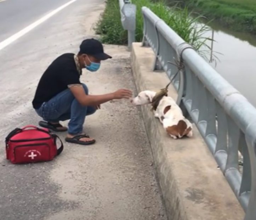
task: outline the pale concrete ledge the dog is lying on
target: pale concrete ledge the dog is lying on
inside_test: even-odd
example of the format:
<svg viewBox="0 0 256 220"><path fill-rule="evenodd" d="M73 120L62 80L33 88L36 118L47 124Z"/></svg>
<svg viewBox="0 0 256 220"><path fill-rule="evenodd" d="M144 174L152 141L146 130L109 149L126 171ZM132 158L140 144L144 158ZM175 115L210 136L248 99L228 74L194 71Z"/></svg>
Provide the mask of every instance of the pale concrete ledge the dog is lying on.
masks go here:
<svg viewBox="0 0 256 220"><path fill-rule="evenodd" d="M151 48L133 43L131 62L138 91L158 91L168 82L165 73L152 71L153 61ZM175 89L169 90L175 98ZM195 126L193 138L173 140L150 106L141 109L168 219L242 220L244 211Z"/></svg>

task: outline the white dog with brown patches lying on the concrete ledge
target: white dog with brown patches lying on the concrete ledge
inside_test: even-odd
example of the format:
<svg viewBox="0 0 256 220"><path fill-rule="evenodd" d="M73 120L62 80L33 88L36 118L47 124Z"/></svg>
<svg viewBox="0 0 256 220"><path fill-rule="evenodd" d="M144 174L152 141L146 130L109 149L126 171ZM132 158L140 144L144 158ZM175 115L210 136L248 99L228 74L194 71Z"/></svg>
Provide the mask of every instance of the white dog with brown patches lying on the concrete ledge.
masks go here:
<svg viewBox="0 0 256 220"><path fill-rule="evenodd" d="M156 92L142 91L133 98L133 105L146 105L152 103ZM174 139L183 136L192 137L192 124L183 116L180 107L171 97L164 96L154 111L155 117L159 118L165 131Z"/></svg>

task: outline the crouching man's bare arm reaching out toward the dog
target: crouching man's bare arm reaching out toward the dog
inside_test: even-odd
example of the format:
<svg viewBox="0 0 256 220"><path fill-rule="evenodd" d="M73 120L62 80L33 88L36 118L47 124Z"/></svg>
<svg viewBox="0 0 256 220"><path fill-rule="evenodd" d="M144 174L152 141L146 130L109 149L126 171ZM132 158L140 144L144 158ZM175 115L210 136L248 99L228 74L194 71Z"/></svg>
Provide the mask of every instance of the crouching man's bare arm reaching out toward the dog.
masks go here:
<svg viewBox="0 0 256 220"><path fill-rule="evenodd" d="M113 99L129 99L132 96L132 92L128 89L119 89L116 92L104 95L86 95L82 86L72 86L69 89L76 100L84 106L100 105Z"/></svg>

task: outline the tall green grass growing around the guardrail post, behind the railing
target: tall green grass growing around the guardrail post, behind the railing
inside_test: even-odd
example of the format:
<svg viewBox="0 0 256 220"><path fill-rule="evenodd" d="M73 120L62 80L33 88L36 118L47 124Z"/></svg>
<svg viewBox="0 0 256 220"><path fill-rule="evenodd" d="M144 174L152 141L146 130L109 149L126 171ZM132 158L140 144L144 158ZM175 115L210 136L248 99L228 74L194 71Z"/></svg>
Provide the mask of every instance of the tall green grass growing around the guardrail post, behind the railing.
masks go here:
<svg viewBox="0 0 256 220"><path fill-rule="evenodd" d="M184 41L192 45L196 50L202 46L207 46L205 37L209 31L206 25L198 25L202 16L192 16L188 8L177 6L168 7L165 1L153 2L150 0L134 0L132 2L137 6L136 13L136 41L140 42L143 38L143 16L141 8L146 6L150 8L158 17L163 19ZM96 25L96 33L101 34L101 40L107 44L126 44L127 32L123 30L120 22L120 9L118 0L107 0L106 9ZM208 47L209 48L209 47Z"/></svg>

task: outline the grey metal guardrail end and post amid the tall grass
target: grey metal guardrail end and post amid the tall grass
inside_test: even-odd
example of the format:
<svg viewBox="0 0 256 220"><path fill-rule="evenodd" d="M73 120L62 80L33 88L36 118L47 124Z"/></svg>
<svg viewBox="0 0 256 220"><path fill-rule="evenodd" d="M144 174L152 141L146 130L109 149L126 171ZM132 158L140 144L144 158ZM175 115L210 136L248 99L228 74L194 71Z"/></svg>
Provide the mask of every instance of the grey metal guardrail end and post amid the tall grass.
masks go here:
<svg viewBox="0 0 256 220"><path fill-rule="evenodd" d="M135 42L136 29L136 5L131 0L119 0L121 23L124 30L128 31L128 48L131 49L132 42Z"/></svg>

